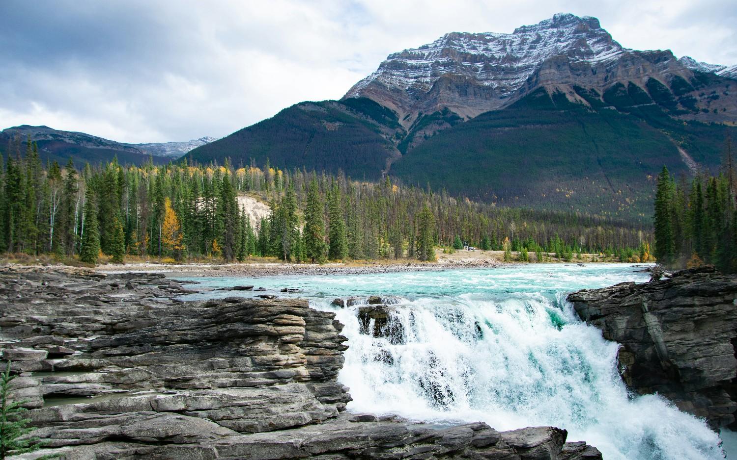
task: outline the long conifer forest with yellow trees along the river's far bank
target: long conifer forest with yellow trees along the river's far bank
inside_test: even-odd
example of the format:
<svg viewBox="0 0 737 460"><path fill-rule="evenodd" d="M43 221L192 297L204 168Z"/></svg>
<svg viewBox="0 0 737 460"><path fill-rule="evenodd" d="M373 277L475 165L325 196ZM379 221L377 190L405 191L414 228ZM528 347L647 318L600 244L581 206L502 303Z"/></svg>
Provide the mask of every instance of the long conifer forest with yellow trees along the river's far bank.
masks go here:
<svg viewBox="0 0 737 460"><path fill-rule="evenodd" d="M1 241L10 253L59 260L200 258L244 261L435 259L435 247L465 240L481 250L649 258L652 235L638 223L577 213L483 205L392 183L351 180L297 169L155 166L116 160L77 170L43 165L38 147L15 142L0 177ZM270 203L270 215L248 216L237 197ZM536 260L540 260L538 257Z"/></svg>

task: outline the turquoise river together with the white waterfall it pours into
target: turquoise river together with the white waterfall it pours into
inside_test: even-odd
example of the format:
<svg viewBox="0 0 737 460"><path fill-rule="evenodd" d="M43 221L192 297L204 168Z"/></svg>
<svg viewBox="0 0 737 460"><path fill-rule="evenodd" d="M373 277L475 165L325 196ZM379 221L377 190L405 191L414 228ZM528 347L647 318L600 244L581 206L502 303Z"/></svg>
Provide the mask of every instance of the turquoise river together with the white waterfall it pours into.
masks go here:
<svg viewBox="0 0 737 460"><path fill-rule="evenodd" d="M198 278L212 287L237 278ZM628 394L618 344L581 322L565 295L646 275L626 265L527 265L489 270L260 278L276 291L301 289L314 308L335 311L348 337L338 380L350 411L441 423L483 421L497 430L552 425L607 460L723 459L719 437L657 395ZM363 305L335 297L394 295L374 337ZM228 295L222 291L211 295ZM197 298L197 296L193 297ZM383 300L383 303L391 303Z"/></svg>

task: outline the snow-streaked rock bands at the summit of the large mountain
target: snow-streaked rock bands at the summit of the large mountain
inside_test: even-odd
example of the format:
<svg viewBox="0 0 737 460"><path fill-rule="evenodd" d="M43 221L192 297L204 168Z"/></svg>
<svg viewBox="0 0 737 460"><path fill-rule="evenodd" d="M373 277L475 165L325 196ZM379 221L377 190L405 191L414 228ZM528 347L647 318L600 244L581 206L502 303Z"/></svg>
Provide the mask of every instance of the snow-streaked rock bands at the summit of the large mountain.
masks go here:
<svg viewBox="0 0 737 460"><path fill-rule="evenodd" d="M444 74L461 74L490 86L500 97L517 91L550 57L605 62L629 52L602 29L598 19L556 14L511 34L452 32L416 49L390 54L377 71L354 85L345 97L361 96L371 82L408 93L426 92Z"/></svg>

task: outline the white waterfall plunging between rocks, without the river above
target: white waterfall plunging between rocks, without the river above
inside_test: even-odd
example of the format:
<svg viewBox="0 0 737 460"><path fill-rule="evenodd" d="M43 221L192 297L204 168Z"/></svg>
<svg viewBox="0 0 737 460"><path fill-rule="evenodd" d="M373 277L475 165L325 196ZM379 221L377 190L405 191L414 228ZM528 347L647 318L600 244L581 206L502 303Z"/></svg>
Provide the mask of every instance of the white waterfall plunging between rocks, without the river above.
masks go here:
<svg viewBox="0 0 737 460"><path fill-rule="evenodd" d="M723 458L703 422L660 397L627 394L618 344L576 320L560 297L405 299L392 305L394 338L362 333L360 305L331 308L349 338L339 375L354 398L349 409L483 420L498 430L553 425L607 460Z"/></svg>

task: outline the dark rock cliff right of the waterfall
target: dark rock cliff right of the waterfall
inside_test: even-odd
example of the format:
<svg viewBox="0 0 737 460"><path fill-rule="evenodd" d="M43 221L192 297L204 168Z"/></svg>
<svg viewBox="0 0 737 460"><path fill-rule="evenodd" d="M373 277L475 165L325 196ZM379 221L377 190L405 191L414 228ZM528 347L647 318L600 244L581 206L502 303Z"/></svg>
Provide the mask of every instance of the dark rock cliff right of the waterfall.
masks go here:
<svg viewBox="0 0 737 460"><path fill-rule="evenodd" d="M619 368L632 389L660 393L715 428L737 428L736 278L707 266L568 300L605 339L622 344Z"/></svg>

